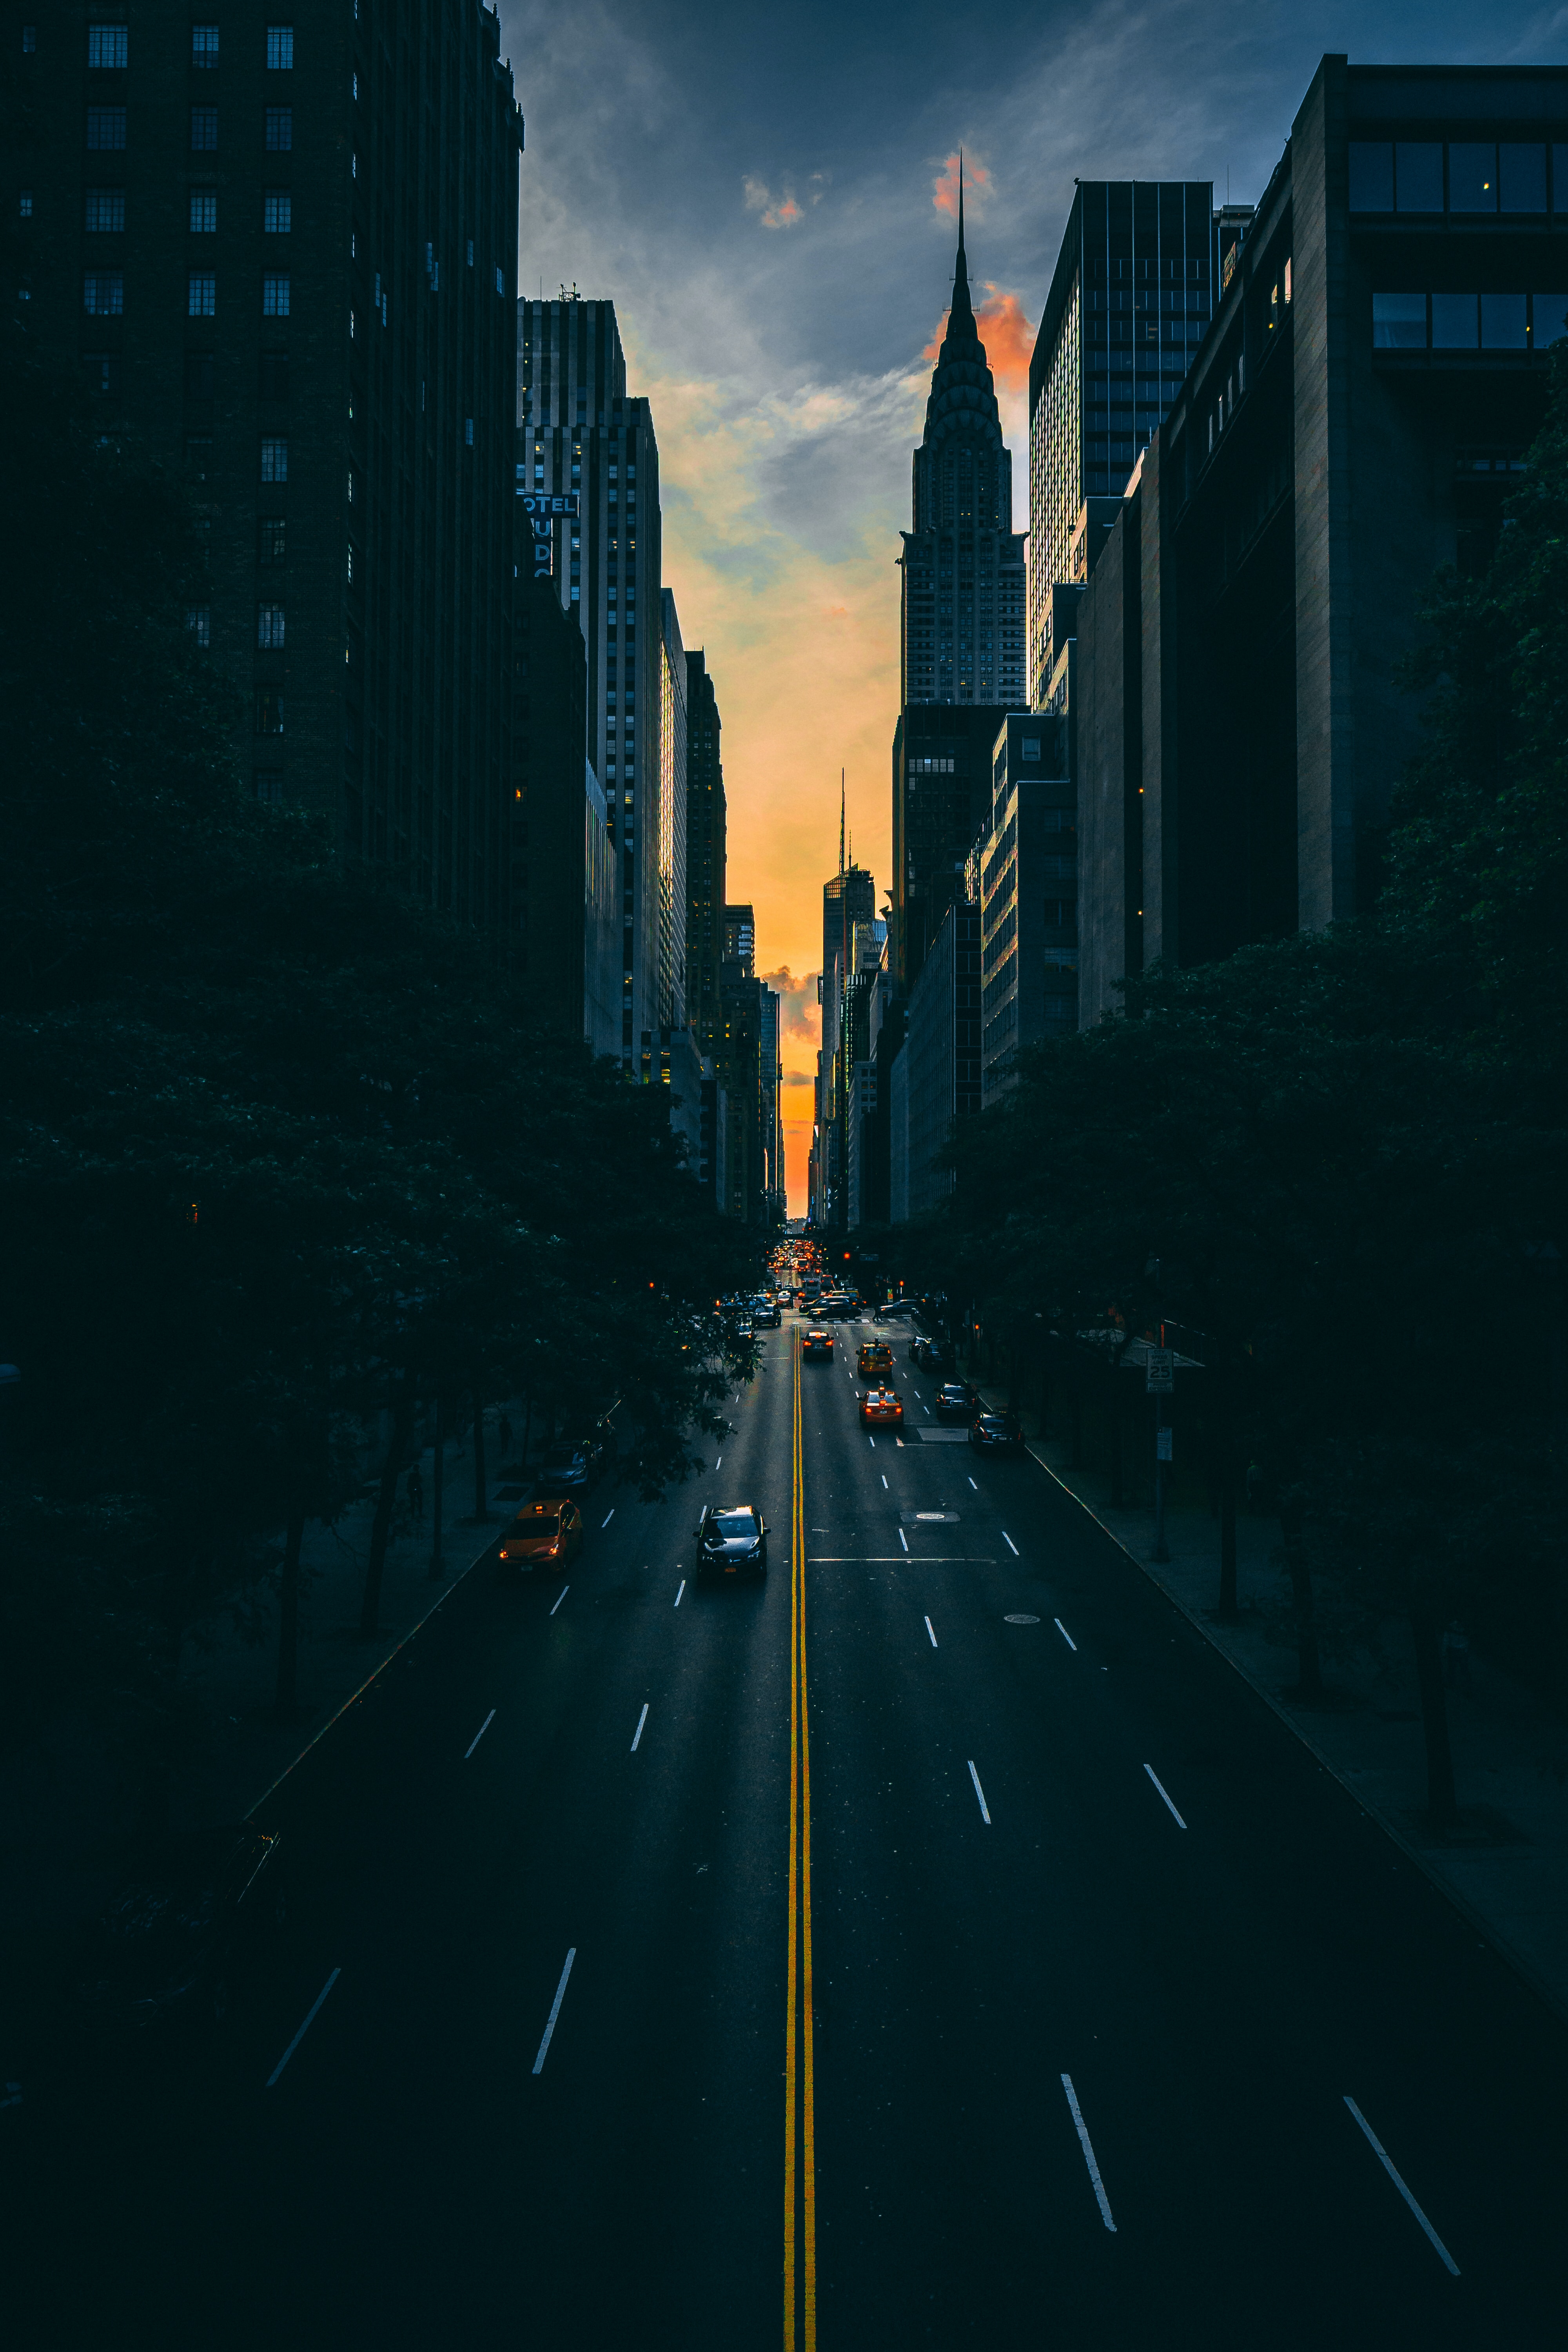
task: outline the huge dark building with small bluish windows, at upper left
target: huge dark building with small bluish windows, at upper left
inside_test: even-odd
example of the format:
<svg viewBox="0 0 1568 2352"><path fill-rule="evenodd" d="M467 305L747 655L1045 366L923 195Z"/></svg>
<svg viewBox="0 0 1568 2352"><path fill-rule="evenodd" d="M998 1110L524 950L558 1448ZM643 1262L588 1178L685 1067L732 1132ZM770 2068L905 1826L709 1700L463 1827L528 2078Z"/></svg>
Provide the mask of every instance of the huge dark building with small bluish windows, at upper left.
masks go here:
<svg viewBox="0 0 1568 2352"><path fill-rule="evenodd" d="M503 922L522 118L498 19L24 14L14 292L103 433L190 482L190 628L240 687L259 797Z"/></svg>

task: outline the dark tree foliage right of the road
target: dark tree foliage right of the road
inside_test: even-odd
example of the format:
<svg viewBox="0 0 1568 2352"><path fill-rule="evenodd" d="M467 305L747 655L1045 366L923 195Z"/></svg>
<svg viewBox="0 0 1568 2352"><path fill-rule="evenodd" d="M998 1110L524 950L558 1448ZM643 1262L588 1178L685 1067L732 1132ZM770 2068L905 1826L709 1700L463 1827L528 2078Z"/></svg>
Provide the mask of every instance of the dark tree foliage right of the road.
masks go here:
<svg viewBox="0 0 1568 2352"><path fill-rule="evenodd" d="M1140 976L954 1145L954 1294L1067 1348L1178 1324L1269 1475L1298 1611L1406 1613L1439 1745L1455 1613L1568 1684L1542 1284L1568 1242L1566 600L1559 376L1495 562L1434 583L1378 910Z"/></svg>

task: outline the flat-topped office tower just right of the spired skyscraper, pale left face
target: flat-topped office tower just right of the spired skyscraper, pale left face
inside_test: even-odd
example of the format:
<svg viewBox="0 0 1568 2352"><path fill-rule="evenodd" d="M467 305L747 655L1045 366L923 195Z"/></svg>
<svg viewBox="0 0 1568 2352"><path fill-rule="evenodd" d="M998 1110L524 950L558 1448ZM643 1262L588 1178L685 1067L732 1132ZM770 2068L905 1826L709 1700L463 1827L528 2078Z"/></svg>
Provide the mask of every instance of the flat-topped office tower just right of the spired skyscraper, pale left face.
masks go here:
<svg viewBox="0 0 1568 2352"><path fill-rule="evenodd" d="M1051 701L1051 590L1088 576L1098 499L1119 499L1213 313L1213 181L1079 181L1030 360L1030 691ZM1232 240L1234 242L1234 240Z"/></svg>

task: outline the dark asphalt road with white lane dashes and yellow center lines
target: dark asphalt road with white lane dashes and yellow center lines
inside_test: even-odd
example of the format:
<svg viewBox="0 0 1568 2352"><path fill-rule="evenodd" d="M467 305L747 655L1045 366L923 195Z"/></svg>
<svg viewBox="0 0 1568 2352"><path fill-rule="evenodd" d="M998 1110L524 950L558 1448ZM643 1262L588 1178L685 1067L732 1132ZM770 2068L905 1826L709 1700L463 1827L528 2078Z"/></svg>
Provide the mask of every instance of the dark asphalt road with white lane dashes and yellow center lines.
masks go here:
<svg viewBox="0 0 1568 2352"><path fill-rule="evenodd" d="M473 1571L268 1802L214 2039L0 2114L9 2340L1561 2343L1563 2027L903 1338L872 1444L853 1338Z"/></svg>

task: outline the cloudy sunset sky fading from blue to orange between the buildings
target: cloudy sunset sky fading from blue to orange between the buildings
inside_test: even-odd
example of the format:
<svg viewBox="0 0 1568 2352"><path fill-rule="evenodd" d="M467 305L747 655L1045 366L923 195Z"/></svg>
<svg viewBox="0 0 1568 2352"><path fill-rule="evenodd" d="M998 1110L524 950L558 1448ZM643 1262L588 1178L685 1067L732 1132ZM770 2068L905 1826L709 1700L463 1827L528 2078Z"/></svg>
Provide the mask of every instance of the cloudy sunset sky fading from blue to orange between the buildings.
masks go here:
<svg viewBox="0 0 1568 2352"><path fill-rule="evenodd" d="M889 882L893 564L957 148L1025 529L1027 362L1074 176L1251 200L1321 52L1544 64L1568 9L501 0L501 26L527 122L517 285L614 299L654 405L665 581L724 720L729 898L755 903L785 997L799 1216L839 767L856 858Z"/></svg>

